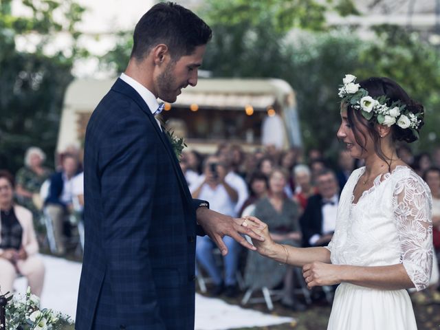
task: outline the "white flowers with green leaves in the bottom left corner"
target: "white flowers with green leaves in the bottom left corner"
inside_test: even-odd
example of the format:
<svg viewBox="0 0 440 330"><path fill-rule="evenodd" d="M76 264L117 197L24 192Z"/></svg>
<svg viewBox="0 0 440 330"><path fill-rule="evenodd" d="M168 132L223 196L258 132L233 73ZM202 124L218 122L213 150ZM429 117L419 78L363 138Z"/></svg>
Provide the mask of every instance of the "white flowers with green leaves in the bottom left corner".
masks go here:
<svg viewBox="0 0 440 330"><path fill-rule="evenodd" d="M7 300L4 330L58 330L73 324L65 314L52 309L39 309L40 299L31 294L30 287L24 296L14 294L8 296Z"/></svg>

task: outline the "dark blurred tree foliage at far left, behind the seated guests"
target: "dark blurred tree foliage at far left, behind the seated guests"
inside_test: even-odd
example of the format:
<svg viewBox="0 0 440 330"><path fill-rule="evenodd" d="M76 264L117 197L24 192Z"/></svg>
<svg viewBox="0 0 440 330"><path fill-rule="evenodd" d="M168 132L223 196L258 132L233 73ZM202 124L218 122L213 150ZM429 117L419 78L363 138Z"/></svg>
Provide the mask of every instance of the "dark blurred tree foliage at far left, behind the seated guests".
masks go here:
<svg viewBox="0 0 440 330"><path fill-rule="evenodd" d="M28 16L11 14L11 0L0 0L0 168L23 166L29 146L54 154L65 88L78 56L76 23L84 8L72 0L23 0ZM61 19L55 19L61 17ZM47 54L59 32L72 36L68 52ZM31 38L32 51L17 50L17 39ZM53 162L53 159L52 159Z"/></svg>

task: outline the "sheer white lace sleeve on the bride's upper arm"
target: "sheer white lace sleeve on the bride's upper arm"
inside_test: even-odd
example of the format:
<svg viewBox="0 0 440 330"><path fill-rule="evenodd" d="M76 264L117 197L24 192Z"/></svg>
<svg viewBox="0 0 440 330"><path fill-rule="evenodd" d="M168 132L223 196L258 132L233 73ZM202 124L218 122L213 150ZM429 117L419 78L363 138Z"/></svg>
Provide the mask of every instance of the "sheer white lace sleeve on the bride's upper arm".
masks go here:
<svg viewBox="0 0 440 330"><path fill-rule="evenodd" d="M397 182L393 198L400 261L417 291L428 287L432 270L430 190L415 173Z"/></svg>

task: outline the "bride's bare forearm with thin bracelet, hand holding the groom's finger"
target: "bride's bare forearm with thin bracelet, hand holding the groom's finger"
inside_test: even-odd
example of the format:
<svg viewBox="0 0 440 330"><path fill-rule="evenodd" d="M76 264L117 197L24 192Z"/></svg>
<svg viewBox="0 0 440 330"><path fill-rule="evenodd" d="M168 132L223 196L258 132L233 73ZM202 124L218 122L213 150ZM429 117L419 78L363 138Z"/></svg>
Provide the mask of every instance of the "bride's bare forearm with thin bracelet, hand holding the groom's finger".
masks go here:
<svg viewBox="0 0 440 330"><path fill-rule="evenodd" d="M256 234L263 236L265 241L252 240L259 254L274 259L280 263L303 267L307 263L320 261L330 263L330 251L327 248L296 248L291 245L276 243L269 234L267 225L256 217L245 217L253 221L259 229L253 229Z"/></svg>

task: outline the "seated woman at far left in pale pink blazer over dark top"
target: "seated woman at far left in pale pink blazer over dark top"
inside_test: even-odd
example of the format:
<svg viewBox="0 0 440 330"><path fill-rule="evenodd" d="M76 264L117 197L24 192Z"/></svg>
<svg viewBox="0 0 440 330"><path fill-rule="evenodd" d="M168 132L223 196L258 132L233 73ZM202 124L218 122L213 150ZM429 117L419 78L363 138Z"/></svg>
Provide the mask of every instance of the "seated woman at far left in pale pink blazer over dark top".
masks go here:
<svg viewBox="0 0 440 330"><path fill-rule="evenodd" d="M37 253L32 212L14 205L14 179L0 170L0 289L12 292L18 274L28 279L33 294L41 296L45 268Z"/></svg>

